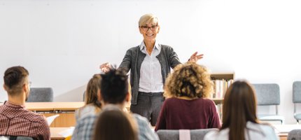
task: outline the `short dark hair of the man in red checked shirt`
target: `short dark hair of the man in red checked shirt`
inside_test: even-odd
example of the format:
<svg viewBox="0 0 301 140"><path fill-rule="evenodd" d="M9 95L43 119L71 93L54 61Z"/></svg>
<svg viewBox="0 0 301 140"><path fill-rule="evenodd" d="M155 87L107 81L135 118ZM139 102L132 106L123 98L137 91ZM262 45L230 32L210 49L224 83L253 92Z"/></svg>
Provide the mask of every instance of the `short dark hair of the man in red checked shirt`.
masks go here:
<svg viewBox="0 0 301 140"><path fill-rule="evenodd" d="M29 72L23 66L13 66L4 72L4 85L8 94L15 95L21 91Z"/></svg>

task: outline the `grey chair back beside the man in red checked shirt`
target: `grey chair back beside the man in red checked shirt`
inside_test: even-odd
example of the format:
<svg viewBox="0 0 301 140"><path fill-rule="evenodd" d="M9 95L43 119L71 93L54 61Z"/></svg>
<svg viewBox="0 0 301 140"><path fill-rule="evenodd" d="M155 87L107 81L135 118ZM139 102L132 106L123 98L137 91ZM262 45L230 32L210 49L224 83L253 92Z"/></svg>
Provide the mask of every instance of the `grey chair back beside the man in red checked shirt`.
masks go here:
<svg viewBox="0 0 301 140"><path fill-rule="evenodd" d="M30 88L27 102L53 102L53 90L51 87Z"/></svg>

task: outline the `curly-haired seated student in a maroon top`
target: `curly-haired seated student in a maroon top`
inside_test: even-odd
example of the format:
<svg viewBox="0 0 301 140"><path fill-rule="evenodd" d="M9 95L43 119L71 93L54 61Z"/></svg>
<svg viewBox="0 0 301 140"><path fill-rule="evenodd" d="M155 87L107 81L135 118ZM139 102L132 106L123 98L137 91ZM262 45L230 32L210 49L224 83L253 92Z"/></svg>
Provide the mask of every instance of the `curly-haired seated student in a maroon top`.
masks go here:
<svg viewBox="0 0 301 140"><path fill-rule="evenodd" d="M219 128L216 105L205 99L213 83L204 66L179 64L165 83L167 97L160 111L155 131Z"/></svg>

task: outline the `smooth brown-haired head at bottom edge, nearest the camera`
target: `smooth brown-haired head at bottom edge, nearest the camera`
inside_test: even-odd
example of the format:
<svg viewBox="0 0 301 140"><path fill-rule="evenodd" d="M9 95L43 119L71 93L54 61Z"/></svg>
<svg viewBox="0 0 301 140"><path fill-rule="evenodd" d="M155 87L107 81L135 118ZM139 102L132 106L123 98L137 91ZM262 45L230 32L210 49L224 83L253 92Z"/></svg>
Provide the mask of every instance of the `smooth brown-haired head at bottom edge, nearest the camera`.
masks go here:
<svg viewBox="0 0 301 140"><path fill-rule="evenodd" d="M95 125L94 140L138 140L137 123L118 106L106 106Z"/></svg>

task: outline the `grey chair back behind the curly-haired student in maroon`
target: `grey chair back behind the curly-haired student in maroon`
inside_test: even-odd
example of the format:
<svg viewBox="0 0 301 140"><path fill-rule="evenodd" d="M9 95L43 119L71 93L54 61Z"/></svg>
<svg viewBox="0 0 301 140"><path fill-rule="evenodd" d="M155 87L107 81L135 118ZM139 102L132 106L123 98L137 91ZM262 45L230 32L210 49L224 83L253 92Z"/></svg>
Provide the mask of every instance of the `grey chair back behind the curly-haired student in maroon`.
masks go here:
<svg viewBox="0 0 301 140"><path fill-rule="evenodd" d="M212 131L218 130L216 128L211 129L200 129L200 130L188 130L190 131L190 139L191 140L203 140L205 135ZM158 130L157 134L160 140L179 140L180 139L180 132L181 130Z"/></svg>

